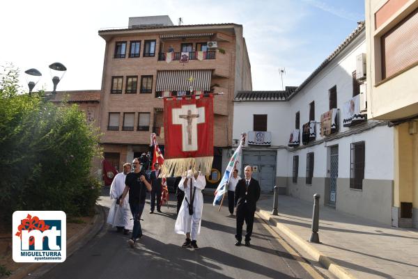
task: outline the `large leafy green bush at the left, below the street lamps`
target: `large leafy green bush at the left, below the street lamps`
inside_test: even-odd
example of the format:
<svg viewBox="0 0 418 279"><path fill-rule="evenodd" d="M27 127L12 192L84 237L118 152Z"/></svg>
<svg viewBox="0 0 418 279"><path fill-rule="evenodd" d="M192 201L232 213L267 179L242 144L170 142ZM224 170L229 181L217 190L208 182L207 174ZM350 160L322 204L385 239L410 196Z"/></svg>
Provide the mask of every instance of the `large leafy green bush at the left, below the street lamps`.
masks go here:
<svg viewBox="0 0 418 279"><path fill-rule="evenodd" d="M13 66L0 73L0 218L15 210L91 213L99 182L90 177L100 154L98 131L73 104L55 105L44 93L19 94ZM1 216L3 215L3 216Z"/></svg>

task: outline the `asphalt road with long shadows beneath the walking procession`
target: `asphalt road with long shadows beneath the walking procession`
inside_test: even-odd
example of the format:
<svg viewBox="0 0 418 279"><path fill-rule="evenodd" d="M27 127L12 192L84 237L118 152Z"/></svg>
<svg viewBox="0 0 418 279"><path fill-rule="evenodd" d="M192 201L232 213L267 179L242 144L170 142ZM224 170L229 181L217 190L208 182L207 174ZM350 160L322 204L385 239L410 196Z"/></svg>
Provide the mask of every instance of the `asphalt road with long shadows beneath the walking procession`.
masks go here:
<svg viewBox="0 0 418 279"><path fill-rule="evenodd" d="M104 193L108 193L104 191ZM251 247L234 246L235 218L227 207L218 212L212 198L205 197L199 250L181 248L185 237L174 233L175 196L162 214L148 214L147 200L141 221L144 237L136 248L115 228L103 229L61 264L38 278L312 278L272 237L261 223L254 223ZM109 206L108 196L101 205ZM245 232L245 225L244 225ZM32 277L32 278L33 278Z"/></svg>

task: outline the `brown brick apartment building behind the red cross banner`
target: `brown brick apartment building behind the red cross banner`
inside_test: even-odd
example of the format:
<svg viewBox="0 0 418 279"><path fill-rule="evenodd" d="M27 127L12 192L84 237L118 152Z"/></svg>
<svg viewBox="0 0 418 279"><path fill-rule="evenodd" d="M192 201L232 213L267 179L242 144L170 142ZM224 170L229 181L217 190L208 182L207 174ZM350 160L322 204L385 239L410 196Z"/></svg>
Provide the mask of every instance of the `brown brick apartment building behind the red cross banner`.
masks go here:
<svg viewBox="0 0 418 279"><path fill-rule="evenodd" d="M106 41L100 103L104 158L119 167L132 161L148 152L151 132L164 148L159 97L224 93L214 101L213 168L222 171L222 154L232 142L233 97L251 90L242 26L176 26L168 16L131 17L128 28L99 35Z"/></svg>

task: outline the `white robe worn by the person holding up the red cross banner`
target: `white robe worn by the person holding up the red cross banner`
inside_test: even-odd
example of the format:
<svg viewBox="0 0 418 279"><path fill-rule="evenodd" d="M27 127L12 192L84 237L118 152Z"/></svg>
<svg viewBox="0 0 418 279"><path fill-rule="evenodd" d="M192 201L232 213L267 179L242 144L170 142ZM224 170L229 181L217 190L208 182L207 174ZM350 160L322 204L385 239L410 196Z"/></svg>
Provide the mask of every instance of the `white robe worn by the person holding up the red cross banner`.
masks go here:
<svg viewBox="0 0 418 279"><path fill-rule="evenodd" d="M189 214L189 205L186 201L186 199L190 201L190 180L187 181L187 187L185 188L185 179L186 177L182 177L180 183L178 184L180 190L185 191L185 198L183 198L183 203L181 204L180 211L178 212L174 231L177 234L186 234L187 232L190 232L192 240L195 240L196 235L200 233L203 211L202 190L205 189L206 179L200 172L197 180L192 177L192 185L196 187L193 201L193 215Z"/></svg>

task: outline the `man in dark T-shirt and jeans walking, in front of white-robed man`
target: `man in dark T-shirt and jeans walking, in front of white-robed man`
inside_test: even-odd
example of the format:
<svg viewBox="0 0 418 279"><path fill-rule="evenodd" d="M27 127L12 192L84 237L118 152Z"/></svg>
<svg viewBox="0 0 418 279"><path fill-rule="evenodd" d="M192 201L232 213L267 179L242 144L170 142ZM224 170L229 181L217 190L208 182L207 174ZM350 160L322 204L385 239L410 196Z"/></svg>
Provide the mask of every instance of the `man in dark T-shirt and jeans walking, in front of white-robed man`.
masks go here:
<svg viewBox="0 0 418 279"><path fill-rule="evenodd" d="M123 205L123 200L129 191L129 205L134 219L134 228L132 229L132 237L128 240L128 244L134 248L138 238L142 237L141 230L141 215L144 211L146 191L151 191L151 184L146 180L145 171L142 170L142 164L138 158L132 161L134 165L133 173L126 175L125 190L123 190L120 204Z"/></svg>

